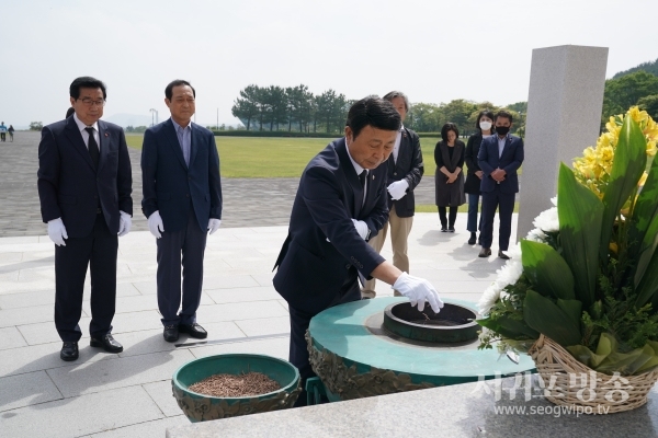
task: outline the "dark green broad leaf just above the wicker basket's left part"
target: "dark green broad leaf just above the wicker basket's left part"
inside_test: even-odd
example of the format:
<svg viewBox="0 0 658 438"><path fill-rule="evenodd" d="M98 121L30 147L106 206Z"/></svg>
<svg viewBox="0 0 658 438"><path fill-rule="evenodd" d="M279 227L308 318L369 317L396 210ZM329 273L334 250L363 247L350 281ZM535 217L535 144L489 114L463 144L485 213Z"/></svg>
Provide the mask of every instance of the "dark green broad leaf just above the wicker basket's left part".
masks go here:
<svg viewBox="0 0 658 438"><path fill-rule="evenodd" d="M580 344L580 326L574 324L557 304L534 290L527 290L523 300L523 319L530 327L563 347Z"/></svg>

